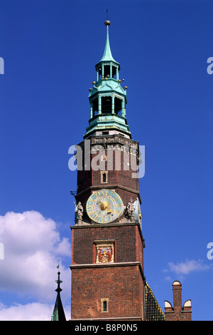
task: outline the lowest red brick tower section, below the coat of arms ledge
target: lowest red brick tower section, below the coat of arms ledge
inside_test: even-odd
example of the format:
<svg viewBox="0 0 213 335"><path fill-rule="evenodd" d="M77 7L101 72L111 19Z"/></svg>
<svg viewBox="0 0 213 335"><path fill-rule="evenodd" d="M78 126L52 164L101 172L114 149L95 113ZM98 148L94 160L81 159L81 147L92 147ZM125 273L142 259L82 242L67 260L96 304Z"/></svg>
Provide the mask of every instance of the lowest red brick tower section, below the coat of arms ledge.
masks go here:
<svg viewBox="0 0 213 335"><path fill-rule="evenodd" d="M72 269L71 319L119 319L141 321L143 281L138 266ZM102 299L109 310L102 311Z"/></svg>

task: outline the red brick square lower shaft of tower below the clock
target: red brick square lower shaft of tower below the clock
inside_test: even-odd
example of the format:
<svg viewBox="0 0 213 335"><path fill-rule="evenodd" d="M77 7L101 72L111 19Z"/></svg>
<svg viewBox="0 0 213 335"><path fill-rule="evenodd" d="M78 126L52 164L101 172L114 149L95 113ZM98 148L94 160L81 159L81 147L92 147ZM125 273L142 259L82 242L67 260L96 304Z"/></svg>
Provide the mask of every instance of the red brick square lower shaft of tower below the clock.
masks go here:
<svg viewBox="0 0 213 335"><path fill-rule="evenodd" d="M140 229L135 223L72 227L72 319L144 319ZM103 240L114 242L113 263L95 263L94 241Z"/></svg>

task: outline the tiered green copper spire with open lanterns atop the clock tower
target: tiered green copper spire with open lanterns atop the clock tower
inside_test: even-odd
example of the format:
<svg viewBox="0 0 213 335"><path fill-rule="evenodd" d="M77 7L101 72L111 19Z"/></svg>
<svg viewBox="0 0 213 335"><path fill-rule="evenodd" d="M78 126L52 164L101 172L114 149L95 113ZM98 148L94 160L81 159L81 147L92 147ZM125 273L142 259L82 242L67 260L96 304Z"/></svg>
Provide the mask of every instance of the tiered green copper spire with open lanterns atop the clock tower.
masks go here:
<svg viewBox="0 0 213 335"><path fill-rule="evenodd" d="M122 88L119 79L120 64L114 60L109 45L110 21L104 22L107 26L107 39L104 55L96 64L97 81L92 81L93 88L89 88L90 120L84 139L90 135L112 133L122 134L131 138L129 125L126 121L126 89ZM123 79L124 81L124 79ZM104 134L104 135L105 135Z"/></svg>

